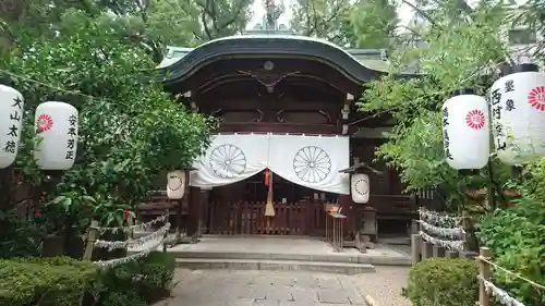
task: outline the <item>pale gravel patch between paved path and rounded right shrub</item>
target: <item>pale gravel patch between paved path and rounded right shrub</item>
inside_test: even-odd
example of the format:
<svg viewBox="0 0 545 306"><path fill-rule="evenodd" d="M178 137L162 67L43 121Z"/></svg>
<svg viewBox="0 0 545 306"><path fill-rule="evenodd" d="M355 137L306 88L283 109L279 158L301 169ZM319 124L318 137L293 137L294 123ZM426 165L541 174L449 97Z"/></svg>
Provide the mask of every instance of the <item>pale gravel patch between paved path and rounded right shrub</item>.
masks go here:
<svg viewBox="0 0 545 306"><path fill-rule="evenodd" d="M354 276L354 285L361 295L371 295L377 306L411 306L401 296L401 289L407 285L409 267L375 266L376 273Z"/></svg>

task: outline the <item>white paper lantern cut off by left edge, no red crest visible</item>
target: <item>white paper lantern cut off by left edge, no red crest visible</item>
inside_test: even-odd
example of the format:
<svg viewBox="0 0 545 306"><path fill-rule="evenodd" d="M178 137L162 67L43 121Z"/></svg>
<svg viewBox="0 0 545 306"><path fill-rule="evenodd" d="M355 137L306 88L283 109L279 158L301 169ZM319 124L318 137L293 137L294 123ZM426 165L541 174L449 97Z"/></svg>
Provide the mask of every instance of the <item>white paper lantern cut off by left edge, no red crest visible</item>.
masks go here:
<svg viewBox="0 0 545 306"><path fill-rule="evenodd" d="M0 85L0 169L8 168L15 161L23 113L23 95L9 86Z"/></svg>

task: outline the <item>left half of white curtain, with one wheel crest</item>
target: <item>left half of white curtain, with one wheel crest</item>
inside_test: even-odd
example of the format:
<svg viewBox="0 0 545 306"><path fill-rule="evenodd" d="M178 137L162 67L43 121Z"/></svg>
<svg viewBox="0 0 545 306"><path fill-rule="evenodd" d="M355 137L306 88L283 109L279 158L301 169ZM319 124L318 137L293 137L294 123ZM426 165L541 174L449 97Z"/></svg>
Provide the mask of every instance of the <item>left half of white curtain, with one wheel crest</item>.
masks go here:
<svg viewBox="0 0 545 306"><path fill-rule="evenodd" d="M215 135L193 164L191 186L217 187L246 180L267 168L269 135Z"/></svg>

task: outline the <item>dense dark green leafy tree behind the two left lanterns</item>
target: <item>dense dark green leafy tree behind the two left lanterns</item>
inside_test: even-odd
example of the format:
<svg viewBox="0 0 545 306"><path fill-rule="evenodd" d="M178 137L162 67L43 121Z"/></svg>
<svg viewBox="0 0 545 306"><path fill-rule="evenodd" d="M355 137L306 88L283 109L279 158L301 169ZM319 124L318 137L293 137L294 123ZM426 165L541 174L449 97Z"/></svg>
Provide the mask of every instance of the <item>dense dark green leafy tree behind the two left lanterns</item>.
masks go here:
<svg viewBox="0 0 545 306"><path fill-rule="evenodd" d="M85 11L62 17L70 26L58 27L59 35L36 39L20 33L17 48L0 58L1 74L26 100L16 169L47 187L33 158L33 113L46 100L73 105L81 118L76 162L49 186L46 200L57 197L50 207L61 225L87 220L87 209L111 223L147 197L161 170L190 166L215 125L162 91L155 63L141 48L119 40L119 33Z"/></svg>

